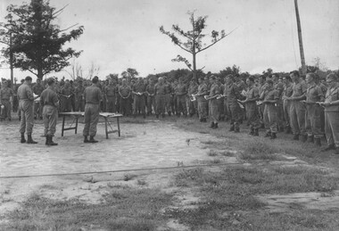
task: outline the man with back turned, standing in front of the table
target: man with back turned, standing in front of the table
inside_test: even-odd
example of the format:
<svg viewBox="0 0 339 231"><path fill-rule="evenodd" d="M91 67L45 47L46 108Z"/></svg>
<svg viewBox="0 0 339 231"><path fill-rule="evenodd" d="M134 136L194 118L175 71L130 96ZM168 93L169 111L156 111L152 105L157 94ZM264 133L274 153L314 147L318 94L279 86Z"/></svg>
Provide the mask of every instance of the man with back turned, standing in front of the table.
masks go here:
<svg viewBox="0 0 339 231"><path fill-rule="evenodd" d="M95 76L92 79L92 85L85 88L85 128L83 131L84 143L97 143L95 140L96 125L99 121L100 101L102 100L102 92L97 84L99 78ZM88 136L89 135L89 140Z"/></svg>

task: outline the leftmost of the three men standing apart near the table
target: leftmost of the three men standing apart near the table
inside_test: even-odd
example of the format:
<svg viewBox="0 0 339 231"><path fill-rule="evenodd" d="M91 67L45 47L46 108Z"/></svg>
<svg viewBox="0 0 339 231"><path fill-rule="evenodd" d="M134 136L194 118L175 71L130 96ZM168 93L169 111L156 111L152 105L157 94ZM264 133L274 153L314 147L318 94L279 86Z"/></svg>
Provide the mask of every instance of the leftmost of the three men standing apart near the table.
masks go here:
<svg viewBox="0 0 339 231"><path fill-rule="evenodd" d="M25 82L18 88L18 98L19 106L21 110L21 144L26 143L25 131L27 132L27 144L37 144L36 141L32 139L32 132L34 127L34 95L33 91L30 88L32 84L32 78L30 76L25 78Z"/></svg>

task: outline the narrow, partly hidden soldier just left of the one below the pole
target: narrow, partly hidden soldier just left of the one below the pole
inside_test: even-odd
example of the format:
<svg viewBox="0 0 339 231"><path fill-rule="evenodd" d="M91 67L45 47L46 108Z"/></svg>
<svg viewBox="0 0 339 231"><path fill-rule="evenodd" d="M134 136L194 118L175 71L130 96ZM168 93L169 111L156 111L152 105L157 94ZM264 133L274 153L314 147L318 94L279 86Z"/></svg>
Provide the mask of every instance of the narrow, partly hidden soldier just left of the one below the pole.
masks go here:
<svg viewBox="0 0 339 231"><path fill-rule="evenodd" d="M291 101L286 100L286 98L291 97L293 94L292 80L290 76L285 76L283 80L285 84L283 97L282 97L283 105L284 105L285 133L290 134L291 133L291 125L290 125Z"/></svg>

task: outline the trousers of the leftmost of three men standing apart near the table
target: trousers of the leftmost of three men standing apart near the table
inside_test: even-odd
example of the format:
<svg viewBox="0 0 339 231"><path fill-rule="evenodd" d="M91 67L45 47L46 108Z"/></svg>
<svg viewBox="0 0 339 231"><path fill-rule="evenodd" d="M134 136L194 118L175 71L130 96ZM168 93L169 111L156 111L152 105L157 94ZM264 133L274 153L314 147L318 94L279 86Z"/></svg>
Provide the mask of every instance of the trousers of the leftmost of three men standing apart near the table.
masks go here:
<svg viewBox="0 0 339 231"><path fill-rule="evenodd" d="M25 133L26 131L28 135L31 135L34 126L33 101L21 100L19 107L21 111L21 123L19 131L20 133Z"/></svg>

